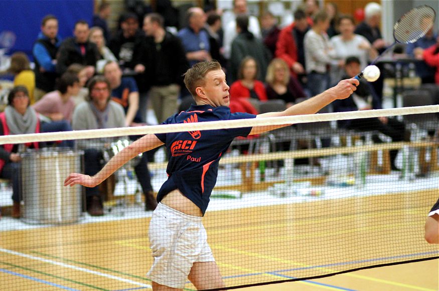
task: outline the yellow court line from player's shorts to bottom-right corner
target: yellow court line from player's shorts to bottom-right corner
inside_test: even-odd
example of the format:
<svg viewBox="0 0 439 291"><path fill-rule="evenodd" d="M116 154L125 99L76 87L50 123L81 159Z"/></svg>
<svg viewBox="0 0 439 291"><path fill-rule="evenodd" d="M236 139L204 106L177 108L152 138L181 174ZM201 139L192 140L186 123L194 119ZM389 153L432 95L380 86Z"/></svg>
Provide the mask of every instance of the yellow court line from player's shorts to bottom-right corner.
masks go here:
<svg viewBox="0 0 439 291"><path fill-rule="evenodd" d="M239 253L239 254L244 254L244 255L248 255L248 256L264 258L264 259L268 259L268 260L272 260L272 261L276 261L276 262L283 262L283 263L288 263L288 264L293 264L293 265L306 266L306 264L304 264L304 263L299 263L299 262L295 262L295 261L291 261L291 260L281 259L281 258L269 256L269 255L262 255L262 254L259 254L259 253L239 250L239 249L235 249L235 248L228 248L228 247L225 247L225 246L222 246L222 245L211 245L211 247L212 248L219 248L219 249L223 249L223 250L227 250L227 251L235 252L235 253ZM325 268L325 269L328 270L328 271L334 271L334 270L332 270L330 268ZM372 281L375 280L374 277L363 276L363 275L356 275L356 274L351 274L351 273L344 273L344 274L340 274L340 275L346 275L346 276L350 276L350 277L361 276L361 277L358 277L358 278L365 279L365 280L372 280ZM381 280L382 283L386 283L386 284L389 284L389 285L404 286L406 288L416 289L416 290L423 290L423 291L435 291L434 289L428 289L428 288L424 288L424 287L413 286L413 285L410 285L410 284L404 284L404 283L399 283L399 282L394 282L394 281L389 281L389 280L384 280L384 279L379 279L379 280Z"/></svg>

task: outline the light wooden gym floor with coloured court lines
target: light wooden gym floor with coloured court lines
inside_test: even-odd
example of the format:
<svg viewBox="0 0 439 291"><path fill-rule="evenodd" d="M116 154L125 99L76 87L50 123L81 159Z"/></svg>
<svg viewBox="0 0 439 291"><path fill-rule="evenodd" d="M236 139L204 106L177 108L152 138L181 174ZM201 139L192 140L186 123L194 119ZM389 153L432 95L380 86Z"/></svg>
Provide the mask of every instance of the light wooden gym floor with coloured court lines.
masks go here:
<svg viewBox="0 0 439 291"><path fill-rule="evenodd" d="M204 225L228 286L310 277L438 256L438 245L423 240L437 196L434 189L208 211ZM148 290L149 220L0 232L0 289ZM245 290L432 291L438 276L434 259Z"/></svg>

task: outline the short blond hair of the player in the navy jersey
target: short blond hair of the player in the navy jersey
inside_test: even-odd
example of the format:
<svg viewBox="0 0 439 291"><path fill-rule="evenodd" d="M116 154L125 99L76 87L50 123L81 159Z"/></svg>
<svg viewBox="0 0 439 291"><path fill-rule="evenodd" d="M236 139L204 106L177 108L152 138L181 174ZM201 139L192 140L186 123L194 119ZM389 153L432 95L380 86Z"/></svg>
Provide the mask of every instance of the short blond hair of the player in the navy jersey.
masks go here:
<svg viewBox="0 0 439 291"><path fill-rule="evenodd" d="M217 61L206 61L195 64L192 68L186 71L183 75L185 77L185 85L188 88L194 99L197 97L195 89L200 86L204 86L207 73L210 71L221 70L221 65Z"/></svg>

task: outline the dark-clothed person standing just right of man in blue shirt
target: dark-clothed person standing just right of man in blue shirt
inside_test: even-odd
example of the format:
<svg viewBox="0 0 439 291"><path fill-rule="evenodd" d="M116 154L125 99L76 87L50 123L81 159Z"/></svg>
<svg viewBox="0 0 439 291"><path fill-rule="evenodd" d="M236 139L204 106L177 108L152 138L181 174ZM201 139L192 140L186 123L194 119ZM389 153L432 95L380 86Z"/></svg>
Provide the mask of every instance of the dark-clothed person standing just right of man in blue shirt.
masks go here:
<svg viewBox="0 0 439 291"><path fill-rule="evenodd" d="M222 67L226 67L226 59L222 54L222 39L219 35L221 30L221 16L216 12L207 15L205 29L209 34L210 56L217 60Z"/></svg>

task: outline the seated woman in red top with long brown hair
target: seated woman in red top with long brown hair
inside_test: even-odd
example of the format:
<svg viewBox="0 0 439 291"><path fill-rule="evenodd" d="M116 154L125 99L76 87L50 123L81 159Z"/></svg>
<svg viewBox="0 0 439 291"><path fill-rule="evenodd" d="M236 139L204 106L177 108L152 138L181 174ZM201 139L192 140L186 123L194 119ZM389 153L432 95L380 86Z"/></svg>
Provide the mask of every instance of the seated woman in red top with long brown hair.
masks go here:
<svg viewBox="0 0 439 291"><path fill-rule="evenodd" d="M264 84L256 80L257 71L258 66L252 57L242 60L238 72L239 79L230 86L230 104L239 102L239 99L245 99L256 109L260 101L267 100ZM248 108L247 105L245 107Z"/></svg>

